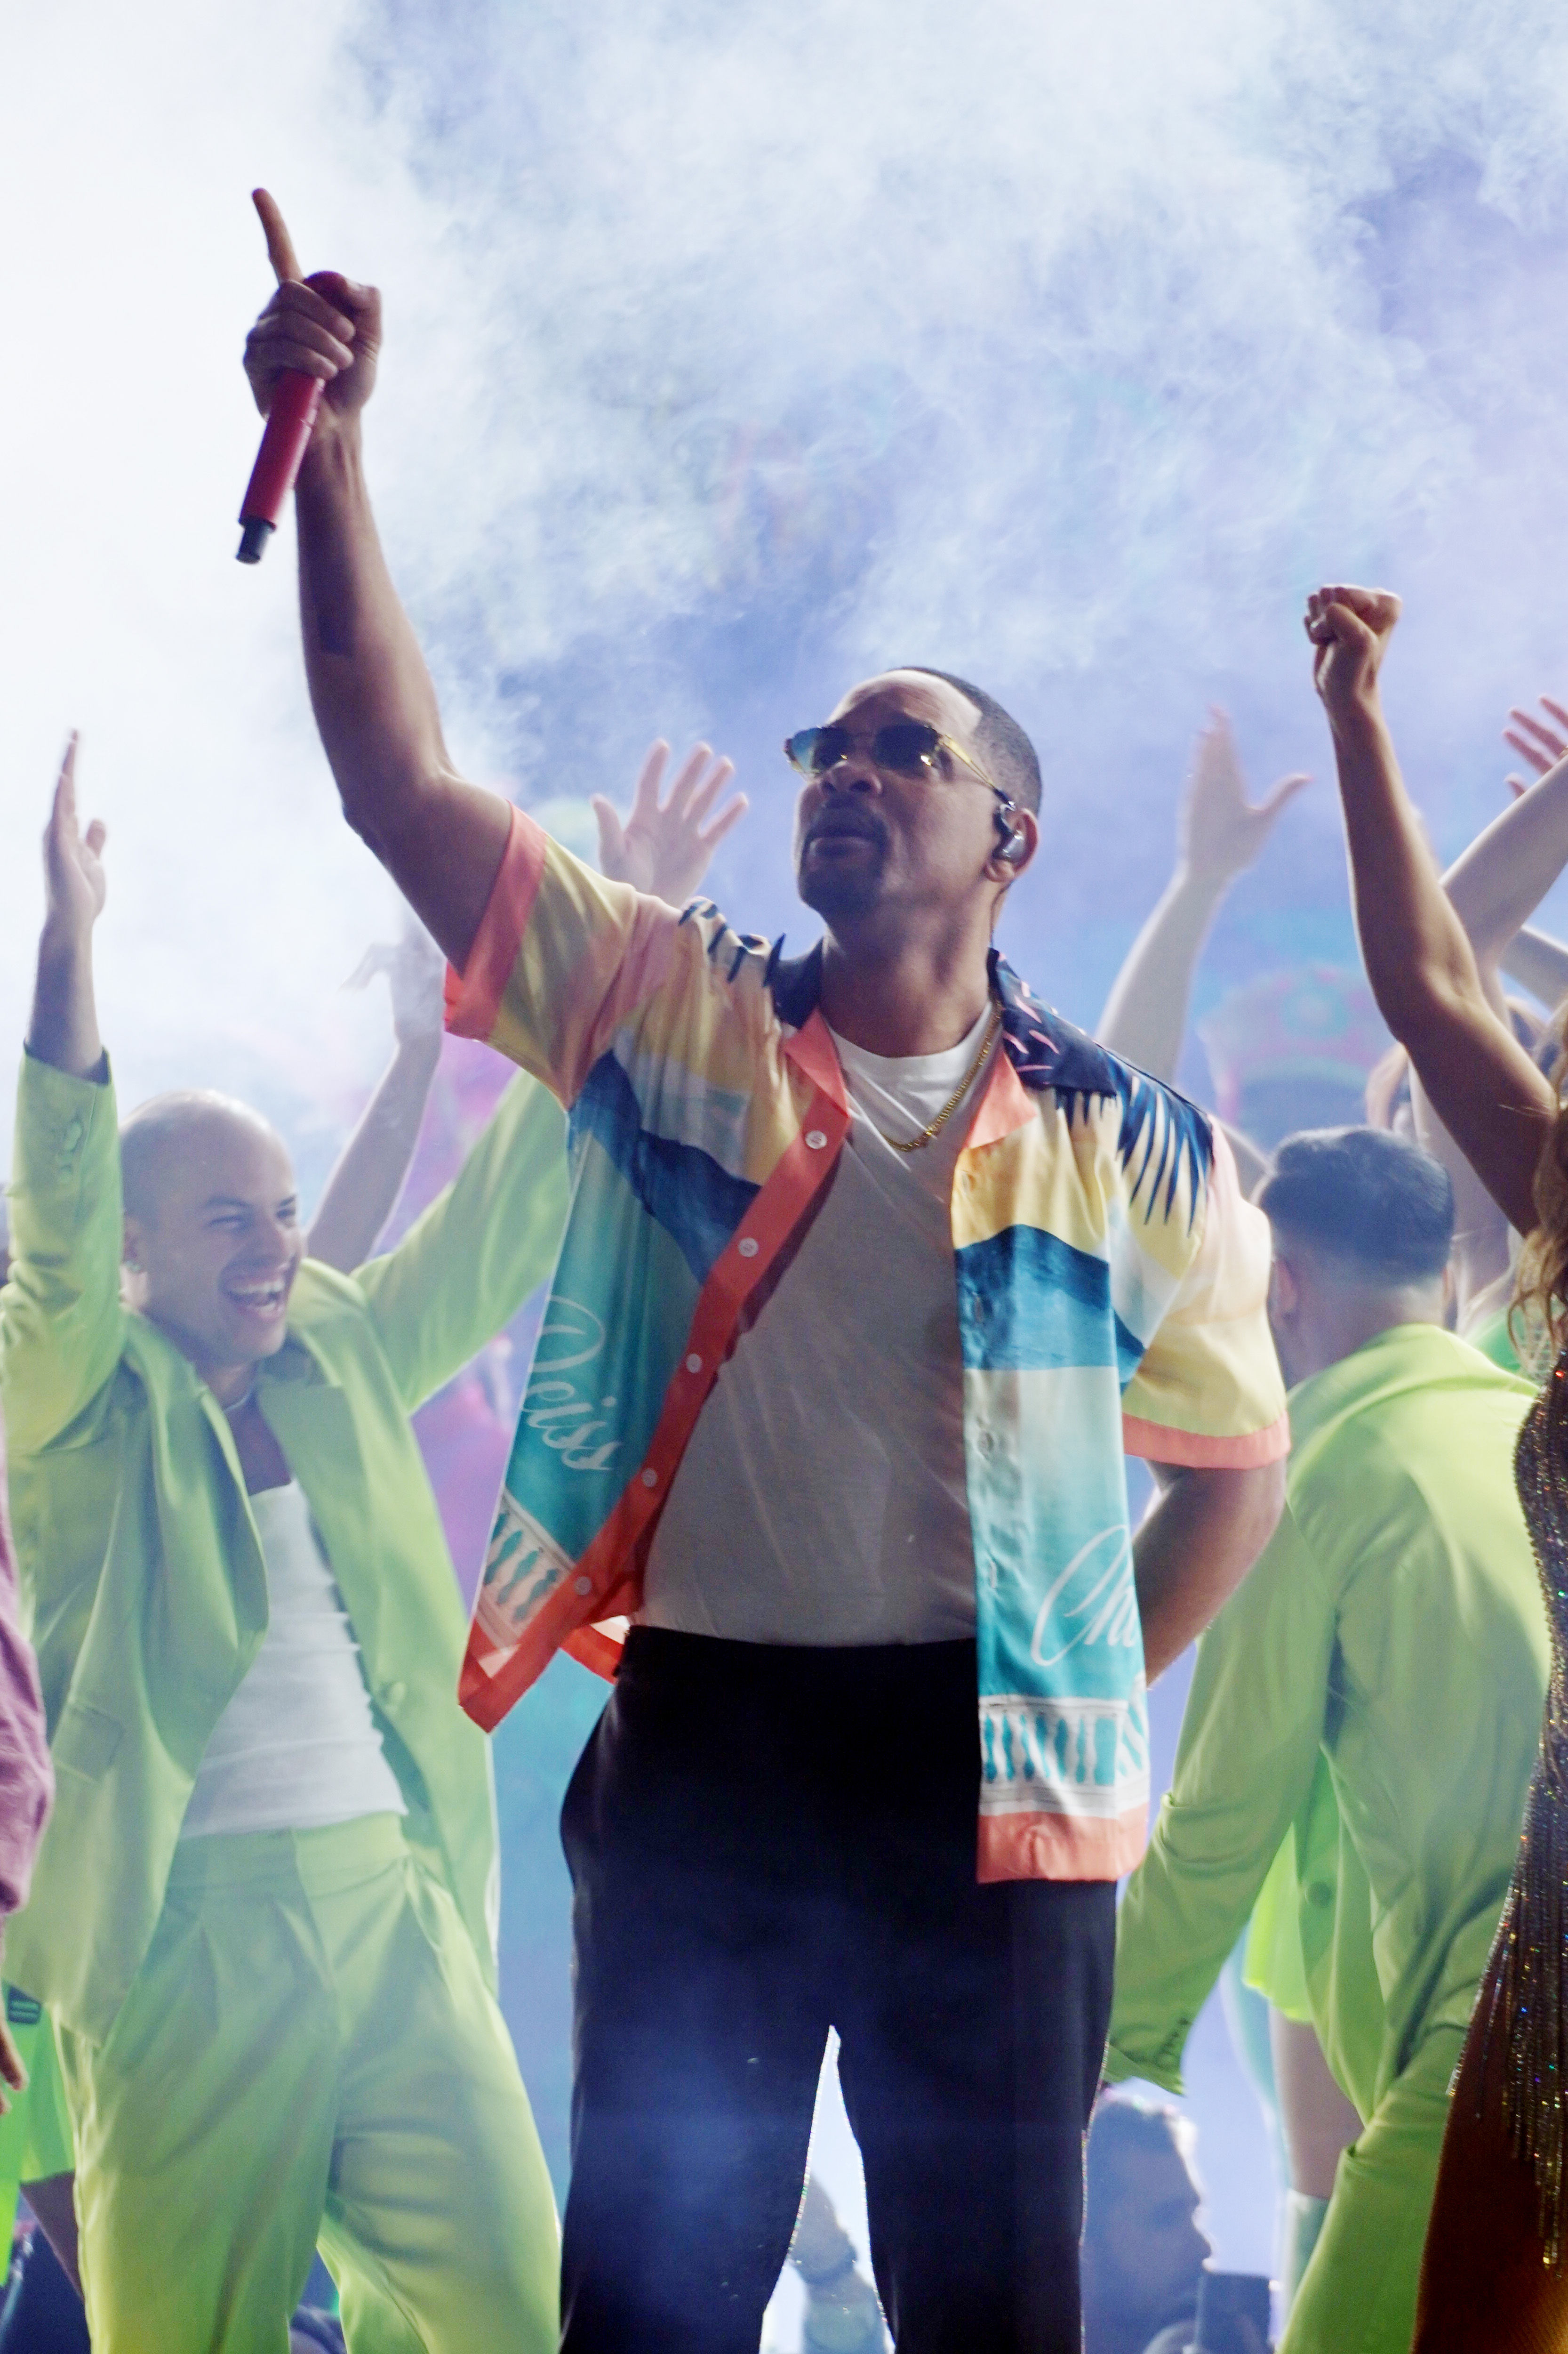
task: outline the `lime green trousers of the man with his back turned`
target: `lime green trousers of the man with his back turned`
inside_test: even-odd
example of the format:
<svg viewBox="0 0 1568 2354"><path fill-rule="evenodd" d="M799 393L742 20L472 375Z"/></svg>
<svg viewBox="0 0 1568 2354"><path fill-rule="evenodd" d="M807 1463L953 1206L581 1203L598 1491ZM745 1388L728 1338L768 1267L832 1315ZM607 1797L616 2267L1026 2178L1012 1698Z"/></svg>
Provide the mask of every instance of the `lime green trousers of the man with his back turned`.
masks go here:
<svg viewBox="0 0 1568 2354"><path fill-rule="evenodd" d="M1278 2354L1410 2354L1462 2027L1434 2027L1342 2154Z"/></svg>

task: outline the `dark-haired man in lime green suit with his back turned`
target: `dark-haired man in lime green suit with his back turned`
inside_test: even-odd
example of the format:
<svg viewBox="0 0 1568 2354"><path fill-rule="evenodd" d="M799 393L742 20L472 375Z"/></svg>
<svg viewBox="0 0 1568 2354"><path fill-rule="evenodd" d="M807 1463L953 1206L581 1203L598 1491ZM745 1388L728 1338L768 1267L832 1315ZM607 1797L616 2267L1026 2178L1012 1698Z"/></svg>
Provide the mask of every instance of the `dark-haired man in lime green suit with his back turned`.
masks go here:
<svg viewBox="0 0 1568 2354"><path fill-rule="evenodd" d="M1406 2354L1448 2081L1547 1681L1514 1492L1533 1389L1443 1330L1453 1189L1415 1144L1290 1137L1260 1201L1293 1384L1285 1516L1198 1648L1170 1796L1121 1911L1107 2074L1182 2088L1187 2032L1290 1838L1314 2027L1366 2130L1281 2354ZM1354 1850L1342 1902L1311 1836L1321 1756ZM1375 1987L1349 1966L1368 1886Z"/></svg>

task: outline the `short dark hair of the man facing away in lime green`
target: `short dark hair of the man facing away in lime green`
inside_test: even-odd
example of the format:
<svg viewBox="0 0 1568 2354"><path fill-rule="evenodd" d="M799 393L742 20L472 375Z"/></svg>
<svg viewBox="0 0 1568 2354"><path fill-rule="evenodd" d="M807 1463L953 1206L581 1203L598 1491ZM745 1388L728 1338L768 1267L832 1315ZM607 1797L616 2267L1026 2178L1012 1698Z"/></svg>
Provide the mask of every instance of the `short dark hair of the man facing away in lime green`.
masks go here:
<svg viewBox="0 0 1568 2354"><path fill-rule="evenodd" d="M1448 1170L1387 1128L1307 1128L1274 1153L1257 1205L1380 1283L1441 1276L1453 1250Z"/></svg>

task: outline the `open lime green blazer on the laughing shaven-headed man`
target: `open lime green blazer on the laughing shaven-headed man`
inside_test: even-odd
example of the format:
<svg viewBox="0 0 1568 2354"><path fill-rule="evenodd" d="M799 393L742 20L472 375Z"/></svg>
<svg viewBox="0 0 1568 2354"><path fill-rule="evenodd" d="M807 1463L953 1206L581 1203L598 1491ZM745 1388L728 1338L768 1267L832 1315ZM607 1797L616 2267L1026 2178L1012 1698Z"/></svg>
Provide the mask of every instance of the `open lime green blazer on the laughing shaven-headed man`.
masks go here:
<svg viewBox="0 0 1568 2354"><path fill-rule="evenodd" d="M407 1801L494 1980L490 1744L457 1704L464 1608L410 1412L542 1283L565 1224L563 1118L509 1088L447 1191L381 1259L299 1271L257 1398L304 1488ZM101 2041L141 1968L195 1768L266 1631L228 1422L120 1299L113 1085L26 1057L0 1396L54 1815L7 1977Z"/></svg>

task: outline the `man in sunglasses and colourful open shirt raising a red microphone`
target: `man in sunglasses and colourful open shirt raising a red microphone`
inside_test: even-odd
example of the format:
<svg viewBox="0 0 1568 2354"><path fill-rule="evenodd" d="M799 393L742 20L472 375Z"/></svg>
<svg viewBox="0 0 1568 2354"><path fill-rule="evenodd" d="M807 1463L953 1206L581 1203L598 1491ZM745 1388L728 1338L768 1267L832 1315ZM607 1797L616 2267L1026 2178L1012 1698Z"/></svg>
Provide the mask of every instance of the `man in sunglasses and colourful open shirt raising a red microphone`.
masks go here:
<svg viewBox="0 0 1568 2354"><path fill-rule="evenodd" d="M570 1106L572 1210L464 1697L624 1664L567 1794L567 2354L753 2354L829 2024L899 2354L1078 2349L1083 2126L1158 1671L1274 1528L1267 1236L1180 1097L991 953L1038 765L890 671L803 770L800 963L610 885L447 760L360 468L379 299L280 290L348 822L452 1026ZM1128 1535L1123 1438L1168 1467Z"/></svg>

